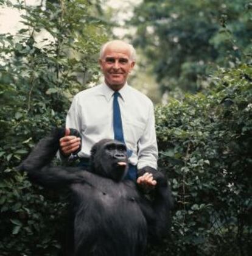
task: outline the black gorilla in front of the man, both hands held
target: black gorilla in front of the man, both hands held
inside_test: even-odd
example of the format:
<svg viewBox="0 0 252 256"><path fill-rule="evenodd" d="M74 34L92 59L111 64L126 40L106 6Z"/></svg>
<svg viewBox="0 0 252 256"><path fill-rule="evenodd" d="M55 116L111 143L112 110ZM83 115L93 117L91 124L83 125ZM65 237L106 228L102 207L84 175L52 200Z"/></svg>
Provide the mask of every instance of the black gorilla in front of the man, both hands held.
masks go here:
<svg viewBox="0 0 252 256"><path fill-rule="evenodd" d="M77 131L71 129L71 134ZM19 169L46 188L69 188L72 229L68 255L142 256L147 240L158 241L170 225L172 205L167 180L150 167L157 181L152 197L144 196L127 172L125 144L104 139L91 149L91 168L51 166L65 129L56 129L43 138ZM69 243L71 244L71 243ZM71 248L70 248L71 247Z"/></svg>

